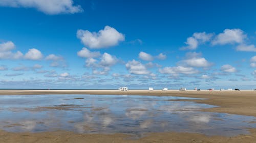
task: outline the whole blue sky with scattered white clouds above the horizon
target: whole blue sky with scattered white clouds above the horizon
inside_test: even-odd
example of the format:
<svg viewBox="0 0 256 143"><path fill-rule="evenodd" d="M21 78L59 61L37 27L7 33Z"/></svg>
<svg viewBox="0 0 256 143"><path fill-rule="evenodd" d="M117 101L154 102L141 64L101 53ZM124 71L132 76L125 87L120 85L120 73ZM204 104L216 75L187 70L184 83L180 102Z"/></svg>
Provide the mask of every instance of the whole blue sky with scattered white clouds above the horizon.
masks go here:
<svg viewBox="0 0 256 143"><path fill-rule="evenodd" d="M256 88L256 2L0 0L0 88Z"/></svg>

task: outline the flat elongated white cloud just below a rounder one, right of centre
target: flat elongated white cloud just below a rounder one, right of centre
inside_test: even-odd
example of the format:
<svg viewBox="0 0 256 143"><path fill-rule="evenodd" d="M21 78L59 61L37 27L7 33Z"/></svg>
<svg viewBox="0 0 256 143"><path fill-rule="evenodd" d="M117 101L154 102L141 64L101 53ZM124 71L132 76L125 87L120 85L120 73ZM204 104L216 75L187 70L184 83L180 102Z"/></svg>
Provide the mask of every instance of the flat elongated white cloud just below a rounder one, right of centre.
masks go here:
<svg viewBox="0 0 256 143"><path fill-rule="evenodd" d="M159 72L162 74L196 74L199 73L198 70L192 68L192 67L183 67L183 66L177 66L177 67L165 67L163 69L159 69Z"/></svg>

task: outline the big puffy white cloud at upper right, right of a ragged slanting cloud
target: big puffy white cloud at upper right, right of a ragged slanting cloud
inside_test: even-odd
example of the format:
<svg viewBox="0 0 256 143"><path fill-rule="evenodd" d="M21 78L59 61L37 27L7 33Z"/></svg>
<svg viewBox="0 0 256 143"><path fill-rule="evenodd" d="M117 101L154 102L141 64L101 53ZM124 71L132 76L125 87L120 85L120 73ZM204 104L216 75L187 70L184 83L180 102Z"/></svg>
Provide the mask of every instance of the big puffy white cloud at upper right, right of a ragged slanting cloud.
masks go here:
<svg viewBox="0 0 256 143"><path fill-rule="evenodd" d="M211 41L212 45L224 45L224 44L241 44L246 38L246 34L240 29L226 29L223 33L220 33Z"/></svg>

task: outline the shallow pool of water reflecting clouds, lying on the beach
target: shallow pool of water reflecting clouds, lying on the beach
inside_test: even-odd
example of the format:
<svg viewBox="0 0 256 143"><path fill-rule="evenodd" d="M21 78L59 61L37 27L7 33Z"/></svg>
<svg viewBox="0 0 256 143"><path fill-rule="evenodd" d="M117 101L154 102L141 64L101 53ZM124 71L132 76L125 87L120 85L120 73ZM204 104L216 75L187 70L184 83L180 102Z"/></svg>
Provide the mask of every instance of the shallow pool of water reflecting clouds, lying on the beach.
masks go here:
<svg viewBox="0 0 256 143"><path fill-rule="evenodd" d="M0 96L0 129L12 132L68 130L79 133L197 132L247 134L256 118L201 112L215 107L167 96ZM254 122L253 122L254 121Z"/></svg>

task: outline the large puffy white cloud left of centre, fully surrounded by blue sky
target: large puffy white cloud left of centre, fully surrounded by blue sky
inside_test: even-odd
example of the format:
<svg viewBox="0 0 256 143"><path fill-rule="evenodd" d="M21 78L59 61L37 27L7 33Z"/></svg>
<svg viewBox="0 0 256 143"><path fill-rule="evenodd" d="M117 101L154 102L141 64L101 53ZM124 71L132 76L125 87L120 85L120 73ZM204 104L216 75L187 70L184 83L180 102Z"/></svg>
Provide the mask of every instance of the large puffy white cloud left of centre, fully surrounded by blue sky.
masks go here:
<svg viewBox="0 0 256 143"><path fill-rule="evenodd" d="M77 38L79 38L84 45L95 49L115 46L118 45L119 42L124 41L124 35L110 26L105 26L104 30L100 30L98 33L78 30Z"/></svg>

